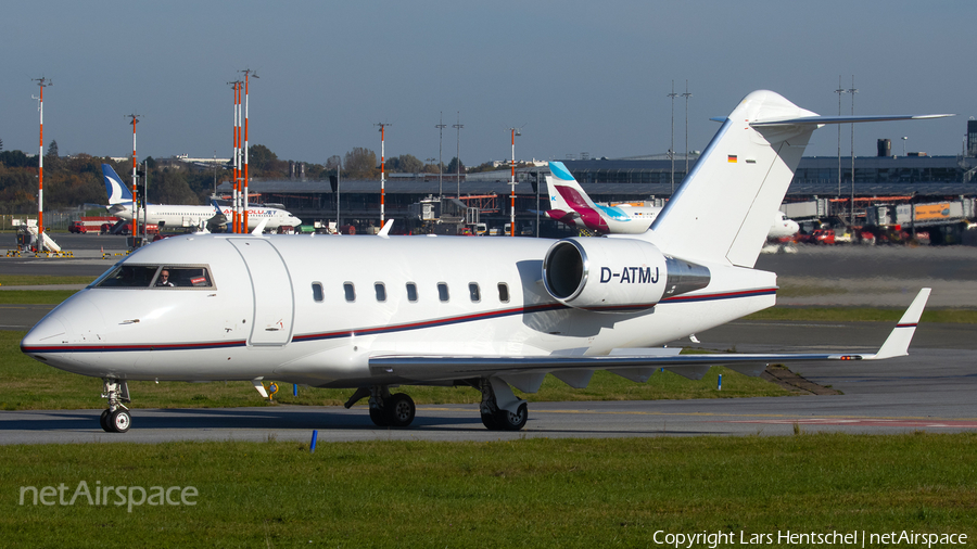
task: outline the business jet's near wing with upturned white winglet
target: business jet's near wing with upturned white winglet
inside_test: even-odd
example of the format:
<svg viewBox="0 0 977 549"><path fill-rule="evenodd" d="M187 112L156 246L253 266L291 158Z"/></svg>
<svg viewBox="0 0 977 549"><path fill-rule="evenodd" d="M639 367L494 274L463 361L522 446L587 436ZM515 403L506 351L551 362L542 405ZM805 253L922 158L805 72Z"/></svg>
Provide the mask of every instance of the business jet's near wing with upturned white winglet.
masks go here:
<svg viewBox="0 0 977 549"><path fill-rule="evenodd" d="M825 360L881 360L905 356L930 289L924 288L892 329L877 353L773 353L678 355L678 348L614 349L605 356L574 355L572 352L548 356L398 356L381 355L369 359L370 373L424 383L486 375L499 375L517 388L534 393L545 373L573 379L584 371L609 370L633 381L644 382L656 369L664 368L689 379L701 379L712 366L725 366L746 375L760 375L767 365ZM570 375L567 375L567 374ZM589 381L589 375L586 375ZM537 383L538 382L538 383ZM573 383L567 381L573 386ZM586 382L582 386L586 386ZM528 391L530 390L530 391Z"/></svg>

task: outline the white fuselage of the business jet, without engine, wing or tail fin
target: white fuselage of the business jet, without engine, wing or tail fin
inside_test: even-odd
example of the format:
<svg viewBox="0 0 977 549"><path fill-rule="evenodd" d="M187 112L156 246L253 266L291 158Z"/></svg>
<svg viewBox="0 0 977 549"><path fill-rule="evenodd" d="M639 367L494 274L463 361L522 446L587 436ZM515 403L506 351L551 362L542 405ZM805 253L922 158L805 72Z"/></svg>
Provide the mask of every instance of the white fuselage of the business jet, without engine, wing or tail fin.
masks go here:
<svg viewBox="0 0 977 549"><path fill-rule="evenodd" d="M99 378L357 387L397 381L371 373L370 357L546 356L570 348L605 355L660 345L774 304L773 273L714 265L708 286L646 310L568 307L542 282L554 242L176 237L141 248L58 306L22 349ZM640 265L633 267L625 261L621 272L640 273ZM177 285L150 285L164 269ZM665 277L607 283L664 284Z"/></svg>

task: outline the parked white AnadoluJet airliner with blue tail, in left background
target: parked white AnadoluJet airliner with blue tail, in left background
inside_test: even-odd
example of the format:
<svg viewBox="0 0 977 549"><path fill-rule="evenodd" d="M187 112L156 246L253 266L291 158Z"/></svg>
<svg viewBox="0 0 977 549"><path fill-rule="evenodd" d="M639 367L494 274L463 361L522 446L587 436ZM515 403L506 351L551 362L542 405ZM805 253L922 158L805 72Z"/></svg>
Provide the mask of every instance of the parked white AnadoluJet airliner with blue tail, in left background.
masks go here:
<svg viewBox="0 0 977 549"><path fill-rule="evenodd" d="M119 219L127 221L132 220L132 192L123 184L118 174L112 169L112 166L102 164L102 175L105 178L105 192L109 193L109 213ZM233 215L230 206L220 207L223 218L218 218L217 226L225 227L227 219ZM200 228L202 225L211 221L217 214L214 206L190 206L190 205L164 205L149 204L147 206L145 222L158 225L161 227L183 227ZM139 213L140 220L142 212ZM277 229L281 226L299 227L302 220L293 216L289 212L279 208L256 206L248 208L248 230L253 230L262 221L265 221L266 229Z"/></svg>

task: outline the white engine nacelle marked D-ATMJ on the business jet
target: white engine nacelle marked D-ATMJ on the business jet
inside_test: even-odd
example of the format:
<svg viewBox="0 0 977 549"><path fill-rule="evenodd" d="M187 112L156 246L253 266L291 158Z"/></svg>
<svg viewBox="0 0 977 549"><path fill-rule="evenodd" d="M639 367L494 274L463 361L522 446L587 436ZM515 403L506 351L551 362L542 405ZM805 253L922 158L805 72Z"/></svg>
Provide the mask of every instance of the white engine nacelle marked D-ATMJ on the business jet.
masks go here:
<svg viewBox="0 0 977 549"><path fill-rule="evenodd" d="M663 255L636 239L563 239L543 259L543 284L555 299L598 312L634 312L662 297L709 284L709 269Z"/></svg>

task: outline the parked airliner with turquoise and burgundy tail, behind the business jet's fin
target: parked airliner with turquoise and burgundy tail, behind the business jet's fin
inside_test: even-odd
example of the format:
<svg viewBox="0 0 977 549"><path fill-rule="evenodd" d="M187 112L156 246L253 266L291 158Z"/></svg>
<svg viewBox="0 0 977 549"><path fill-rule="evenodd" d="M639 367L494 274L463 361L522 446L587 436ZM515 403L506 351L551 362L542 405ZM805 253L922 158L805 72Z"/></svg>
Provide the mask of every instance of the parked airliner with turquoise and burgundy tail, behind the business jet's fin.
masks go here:
<svg viewBox="0 0 977 549"><path fill-rule="evenodd" d="M549 190L549 209L546 215L571 227L597 234L640 234L651 227L661 212L659 206L597 204L570 175L562 162L550 162L549 170L553 175L546 176L546 187ZM797 221L788 219L783 212L776 212L766 238L791 237L798 230L800 227Z"/></svg>

